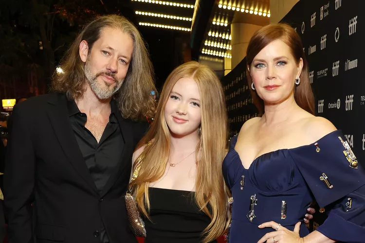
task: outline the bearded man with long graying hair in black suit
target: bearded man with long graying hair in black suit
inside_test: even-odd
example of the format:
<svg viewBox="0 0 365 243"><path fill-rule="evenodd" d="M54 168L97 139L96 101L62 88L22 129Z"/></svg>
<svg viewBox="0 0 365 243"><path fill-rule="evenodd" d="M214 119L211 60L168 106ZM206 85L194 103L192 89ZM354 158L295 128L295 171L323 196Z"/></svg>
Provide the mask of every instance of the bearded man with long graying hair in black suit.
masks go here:
<svg viewBox="0 0 365 243"><path fill-rule="evenodd" d="M125 208L135 145L154 112L152 65L136 27L91 21L50 94L14 108L5 171L10 243L136 242Z"/></svg>

